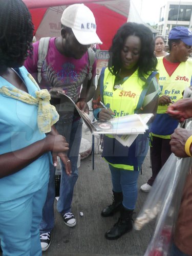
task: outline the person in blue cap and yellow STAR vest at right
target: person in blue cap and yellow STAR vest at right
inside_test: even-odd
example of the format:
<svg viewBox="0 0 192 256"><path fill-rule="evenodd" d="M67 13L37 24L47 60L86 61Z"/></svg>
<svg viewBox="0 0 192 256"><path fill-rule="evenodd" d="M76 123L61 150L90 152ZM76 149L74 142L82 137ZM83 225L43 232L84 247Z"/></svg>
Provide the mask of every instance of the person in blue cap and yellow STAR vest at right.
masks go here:
<svg viewBox="0 0 192 256"><path fill-rule="evenodd" d="M157 115L151 127L152 177L141 186L141 190L151 190L162 166L169 158L170 135L178 126L178 121L167 114L169 105L183 98L183 91L192 86L192 32L182 26L174 27L168 36L169 55L159 57L157 70L161 94Z"/></svg>

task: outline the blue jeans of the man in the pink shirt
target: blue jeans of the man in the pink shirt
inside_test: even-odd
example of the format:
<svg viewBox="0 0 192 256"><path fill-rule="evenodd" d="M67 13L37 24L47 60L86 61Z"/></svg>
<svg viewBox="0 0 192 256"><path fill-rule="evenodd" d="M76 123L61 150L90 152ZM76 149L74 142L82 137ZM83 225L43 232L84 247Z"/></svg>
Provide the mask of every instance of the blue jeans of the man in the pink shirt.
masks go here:
<svg viewBox="0 0 192 256"><path fill-rule="evenodd" d="M73 199L73 189L78 178L77 161L82 135L82 120L79 119L72 123L56 123L56 129L59 134L66 137L69 143L68 157L71 160L72 174L68 176L65 172L65 166L62 165L59 200L57 202L58 212L65 214L71 211ZM50 180L48 185L48 194L44 209L42 211L42 221L40 224L40 233L50 232L54 227L54 199L55 199L55 167L50 165Z"/></svg>

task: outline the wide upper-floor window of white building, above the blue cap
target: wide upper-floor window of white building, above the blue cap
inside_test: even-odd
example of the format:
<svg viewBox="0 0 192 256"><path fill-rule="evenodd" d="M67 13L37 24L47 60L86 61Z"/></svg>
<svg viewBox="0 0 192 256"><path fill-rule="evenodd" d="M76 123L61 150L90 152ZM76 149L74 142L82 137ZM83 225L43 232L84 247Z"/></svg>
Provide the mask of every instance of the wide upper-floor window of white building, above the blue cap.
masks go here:
<svg viewBox="0 0 192 256"><path fill-rule="evenodd" d="M170 5L168 12L168 20L180 20L184 22L190 21L192 5Z"/></svg>

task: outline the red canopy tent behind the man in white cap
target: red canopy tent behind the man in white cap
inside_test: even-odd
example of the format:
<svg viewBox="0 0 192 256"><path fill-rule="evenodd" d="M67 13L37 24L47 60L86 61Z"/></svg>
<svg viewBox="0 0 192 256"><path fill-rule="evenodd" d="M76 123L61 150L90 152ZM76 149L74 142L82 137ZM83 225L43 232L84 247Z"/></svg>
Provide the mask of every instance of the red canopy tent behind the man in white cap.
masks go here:
<svg viewBox="0 0 192 256"><path fill-rule="evenodd" d="M83 3L94 13L97 34L103 45L101 50L108 50L117 29L127 21L130 0L23 0L29 8L33 24L34 35L38 40L44 36L60 35L60 17L63 10L75 3Z"/></svg>

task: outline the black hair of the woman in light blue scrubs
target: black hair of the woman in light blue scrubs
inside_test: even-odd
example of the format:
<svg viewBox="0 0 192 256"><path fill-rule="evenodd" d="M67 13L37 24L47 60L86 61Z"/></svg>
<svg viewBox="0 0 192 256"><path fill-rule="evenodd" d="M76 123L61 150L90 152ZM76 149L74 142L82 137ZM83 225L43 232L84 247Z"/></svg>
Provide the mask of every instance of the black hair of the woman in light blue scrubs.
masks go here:
<svg viewBox="0 0 192 256"><path fill-rule="evenodd" d="M22 0L0 0L0 72L23 65L32 55L34 26Z"/></svg>

